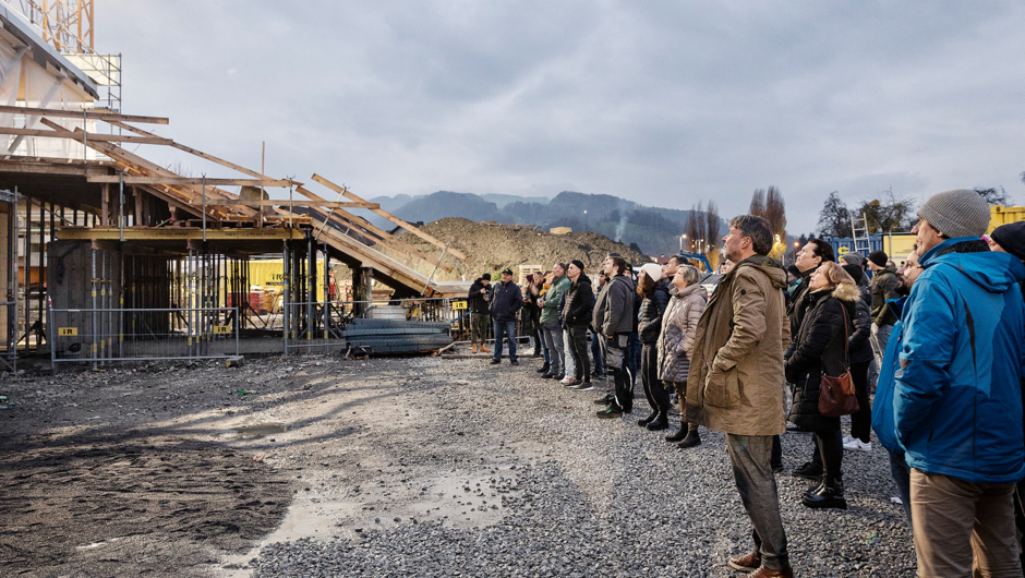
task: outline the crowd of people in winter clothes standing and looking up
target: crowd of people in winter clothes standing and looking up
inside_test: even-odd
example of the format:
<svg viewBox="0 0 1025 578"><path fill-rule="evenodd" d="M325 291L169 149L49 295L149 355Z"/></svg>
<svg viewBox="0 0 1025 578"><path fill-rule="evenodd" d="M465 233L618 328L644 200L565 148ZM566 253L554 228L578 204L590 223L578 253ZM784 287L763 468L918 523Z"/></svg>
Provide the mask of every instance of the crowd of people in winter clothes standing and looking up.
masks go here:
<svg viewBox="0 0 1025 578"><path fill-rule="evenodd" d="M793 575L774 479L780 435L811 434L811 456L793 470L813 480L801 503L846 509L844 450L871 451L875 430L918 576L1021 577L1025 222L986 236L990 210L972 190L936 194L917 215L900 268L882 251L837 262L821 239L784 268L768 256L768 221L735 217L711 296L683 254L635 268L611 253L596 287L577 260L529 276L522 291L510 269L497 287L485 275L469 296L473 349L491 352L490 315L492 363L508 337L517 364L523 309L541 378L587 392L610 376L598 418L632 411L639 375L650 413L638 425L666 430L675 396L679 429L666 441L687 449L701 444L699 426L725 433L755 542L728 564L749 576ZM847 378L857 404L844 434L830 404Z"/></svg>

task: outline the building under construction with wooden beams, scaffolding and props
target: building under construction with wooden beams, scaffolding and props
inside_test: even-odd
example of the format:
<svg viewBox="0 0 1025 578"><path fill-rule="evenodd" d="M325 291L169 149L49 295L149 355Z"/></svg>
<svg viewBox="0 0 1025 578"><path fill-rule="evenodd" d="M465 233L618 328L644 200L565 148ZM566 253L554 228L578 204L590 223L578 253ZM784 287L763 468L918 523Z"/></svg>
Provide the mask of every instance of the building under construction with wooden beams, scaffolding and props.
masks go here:
<svg viewBox="0 0 1025 578"><path fill-rule="evenodd" d="M272 178L142 128L166 118L121 113L120 59L92 51L92 1L58 4L0 2L0 365L20 353L125 359L126 334L185 348L164 357L202 357L218 335L246 329L327 337L339 313L324 298L333 263L351 270L342 316L373 301L374 284L391 300L455 294L420 270L450 270L445 260L466 255L345 186ZM136 144L174 147L229 177L174 173L125 148ZM261 325L249 268L267 254L282 260L282 306L279 323Z"/></svg>

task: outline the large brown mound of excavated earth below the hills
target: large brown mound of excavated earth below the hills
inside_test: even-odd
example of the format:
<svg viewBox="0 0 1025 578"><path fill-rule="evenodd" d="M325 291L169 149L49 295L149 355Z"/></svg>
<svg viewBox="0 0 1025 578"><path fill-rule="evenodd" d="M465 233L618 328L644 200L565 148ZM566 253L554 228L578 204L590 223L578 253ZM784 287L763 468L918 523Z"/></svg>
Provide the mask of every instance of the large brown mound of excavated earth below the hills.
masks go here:
<svg viewBox="0 0 1025 578"><path fill-rule="evenodd" d="M579 258L583 262L588 275L596 276L605 255L610 252L619 253L628 263L639 265L651 261L650 257L627 245L617 243L612 239L590 231L571 232L568 234L552 234L547 231L535 231L528 228L498 227L484 222L449 217L429 222L423 230L439 241L451 243L451 246L467 255L466 262L446 256L445 263L453 265L451 273L438 268L434 278L438 280L472 281L484 273L491 273L492 278L506 267L510 267L519 279L520 265L541 265L545 270L552 268L556 262L568 263ZM417 246L430 255L439 255L441 250L412 233L403 232L401 238L407 243ZM406 261L405 255L390 253L399 262ZM419 260L415 260L419 262ZM411 260L410 263L413 261ZM433 266L423 266L418 263L417 268L424 275L431 275Z"/></svg>

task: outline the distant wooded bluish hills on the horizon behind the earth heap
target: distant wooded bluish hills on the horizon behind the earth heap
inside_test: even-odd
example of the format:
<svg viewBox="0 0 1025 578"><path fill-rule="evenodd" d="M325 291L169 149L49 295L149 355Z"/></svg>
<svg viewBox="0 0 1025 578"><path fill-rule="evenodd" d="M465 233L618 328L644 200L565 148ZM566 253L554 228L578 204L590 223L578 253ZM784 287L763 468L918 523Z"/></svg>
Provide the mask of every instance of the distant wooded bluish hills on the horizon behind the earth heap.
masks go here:
<svg viewBox="0 0 1025 578"><path fill-rule="evenodd" d="M446 217L474 221L570 227L574 231L592 231L615 241L637 243L649 255L675 253L679 236L685 232L690 210L649 207L604 194L564 191L548 201L544 197L516 195L478 195L438 191L429 195L378 196L371 198L381 207L411 222L430 222ZM702 219L704 215L701 215ZM385 219L371 221L391 229ZM720 219L720 232L726 222Z"/></svg>

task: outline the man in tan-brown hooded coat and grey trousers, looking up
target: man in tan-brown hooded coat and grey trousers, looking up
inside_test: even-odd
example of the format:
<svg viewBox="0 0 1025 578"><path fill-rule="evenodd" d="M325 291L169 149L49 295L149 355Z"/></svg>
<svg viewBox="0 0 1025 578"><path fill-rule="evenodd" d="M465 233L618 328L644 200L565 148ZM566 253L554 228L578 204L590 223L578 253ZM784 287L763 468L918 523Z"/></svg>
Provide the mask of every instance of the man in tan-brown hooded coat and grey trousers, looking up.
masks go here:
<svg viewBox="0 0 1025 578"><path fill-rule="evenodd" d="M723 277L695 334L687 378L687 419L726 434L726 451L755 550L729 566L757 578L791 577L780 499L769 465L772 436L783 433L783 351L791 340L783 288L786 270L767 255L769 221L729 221L723 252L736 267Z"/></svg>

